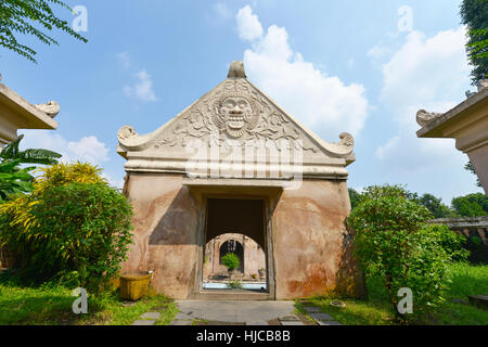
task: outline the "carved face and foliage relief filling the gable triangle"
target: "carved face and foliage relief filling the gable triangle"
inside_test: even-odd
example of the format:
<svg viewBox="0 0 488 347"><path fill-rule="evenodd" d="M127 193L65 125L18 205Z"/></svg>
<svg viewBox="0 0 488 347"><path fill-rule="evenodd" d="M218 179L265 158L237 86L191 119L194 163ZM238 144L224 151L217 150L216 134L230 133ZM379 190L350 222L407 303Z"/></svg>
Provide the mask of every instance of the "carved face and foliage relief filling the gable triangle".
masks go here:
<svg viewBox="0 0 488 347"><path fill-rule="evenodd" d="M196 139L209 145L229 141L299 140L295 145L299 143L305 151L318 152L310 140L245 79L229 79L200 100L166 129L155 147L185 147Z"/></svg>

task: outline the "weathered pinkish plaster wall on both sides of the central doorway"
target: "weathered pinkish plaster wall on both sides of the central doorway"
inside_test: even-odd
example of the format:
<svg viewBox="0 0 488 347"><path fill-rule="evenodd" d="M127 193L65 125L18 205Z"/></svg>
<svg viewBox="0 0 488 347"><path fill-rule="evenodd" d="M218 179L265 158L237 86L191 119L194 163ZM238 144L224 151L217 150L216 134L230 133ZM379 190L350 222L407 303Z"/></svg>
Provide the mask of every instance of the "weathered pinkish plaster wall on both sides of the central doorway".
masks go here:
<svg viewBox="0 0 488 347"><path fill-rule="evenodd" d="M125 187L134 208L134 244L123 269L153 270L154 288L174 298L193 295L205 206L181 182L176 175L131 172ZM275 298L360 295L344 223L350 208L346 182L306 180L269 200Z"/></svg>

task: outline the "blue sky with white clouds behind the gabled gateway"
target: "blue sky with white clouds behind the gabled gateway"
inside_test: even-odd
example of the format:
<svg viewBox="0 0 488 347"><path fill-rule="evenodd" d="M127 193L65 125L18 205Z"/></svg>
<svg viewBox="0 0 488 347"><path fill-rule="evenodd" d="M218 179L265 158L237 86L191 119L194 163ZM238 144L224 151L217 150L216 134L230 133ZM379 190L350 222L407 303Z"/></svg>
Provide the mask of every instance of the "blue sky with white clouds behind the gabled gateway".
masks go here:
<svg viewBox="0 0 488 347"><path fill-rule="evenodd" d="M243 60L248 79L322 139L354 133L349 187L402 183L449 204L481 190L453 140L416 138L415 113L475 90L460 2L67 1L86 7L89 43L20 38L39 64L2 50L0 72L29 102L61 105L59 129L22 131L24 146L90 160L121 185L117 130L157 129Z"/></svg>

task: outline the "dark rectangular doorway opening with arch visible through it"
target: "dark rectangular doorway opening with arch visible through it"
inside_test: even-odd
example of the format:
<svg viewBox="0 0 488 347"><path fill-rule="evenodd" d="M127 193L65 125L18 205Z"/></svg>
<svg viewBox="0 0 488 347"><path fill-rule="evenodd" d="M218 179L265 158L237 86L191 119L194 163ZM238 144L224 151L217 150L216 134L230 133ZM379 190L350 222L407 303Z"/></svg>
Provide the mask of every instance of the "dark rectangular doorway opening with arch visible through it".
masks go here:
<svg viewBox="0 0 488 347"><path fill-rule="evenodd" d="M221 284L239 280L242 292L270 295L270 250L267 242L266 200L208 196L201 290L231 290ZM230 279L221 257L232 252L240 258L237 274ZM235 291L235 292L239 292Z"/></svg>

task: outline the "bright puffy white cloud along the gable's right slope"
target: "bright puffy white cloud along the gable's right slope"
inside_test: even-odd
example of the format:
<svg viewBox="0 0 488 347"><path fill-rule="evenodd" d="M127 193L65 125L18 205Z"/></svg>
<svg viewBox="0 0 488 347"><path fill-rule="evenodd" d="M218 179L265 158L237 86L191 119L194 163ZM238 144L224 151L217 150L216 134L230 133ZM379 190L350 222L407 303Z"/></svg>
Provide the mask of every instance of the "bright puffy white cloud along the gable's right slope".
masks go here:
<svg viewBox="0 0 488 347"><path fill-rule="evenodd" d="M245 15L243 13L246 13ZM241 9L239 16L252 15L249 7ZM261 27L253 15L256 27ZM249 79L273 98L306 126L325 140L334 141L343 131L358 134L368 116L364 87L346 86L338 77L328 76L313 63L294 52L285 28L271 25L265 36L241 38L256 41L244 52L244 64Z"/></svg>

